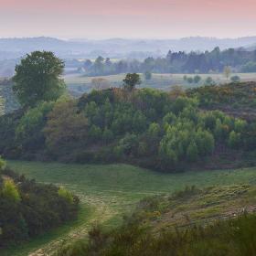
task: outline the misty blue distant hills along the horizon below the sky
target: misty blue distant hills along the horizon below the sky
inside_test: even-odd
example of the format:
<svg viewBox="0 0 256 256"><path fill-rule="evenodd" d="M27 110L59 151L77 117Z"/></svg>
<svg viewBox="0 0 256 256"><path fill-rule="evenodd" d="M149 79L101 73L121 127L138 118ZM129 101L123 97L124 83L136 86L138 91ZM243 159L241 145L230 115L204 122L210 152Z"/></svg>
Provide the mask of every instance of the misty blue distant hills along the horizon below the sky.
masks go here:
<svg viewBox="0 0 256 256"><path fill-rule="evenodd" d="M102 40L73 39L60 40L52 37L2 38L0 39L0 59L16 59L33 50L51 50L61 58L95 58L99 55L123 58L149 55L162 56L168 50L191 51L211 50L217 46L224 48L248 47L256 44L256 37L215 38L184 37L180 39L123 39Z"/></svg>

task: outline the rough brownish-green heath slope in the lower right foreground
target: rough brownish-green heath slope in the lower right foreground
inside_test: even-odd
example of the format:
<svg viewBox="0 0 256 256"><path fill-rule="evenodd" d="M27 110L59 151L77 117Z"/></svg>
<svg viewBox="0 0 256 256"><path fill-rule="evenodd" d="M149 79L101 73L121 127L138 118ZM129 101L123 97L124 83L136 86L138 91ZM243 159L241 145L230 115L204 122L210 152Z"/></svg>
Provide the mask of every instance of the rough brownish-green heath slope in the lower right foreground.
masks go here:
<svg viewBox="0 0 256 256"><path fill-rule="evenodd" d="M240 185L186 186L172 195L145 197L122 226L107 231L93 227L89 242L68 244L58 255L251 256L256 252L256 215L245 209L235 216L234 208L245 202L253 208L254 196L255 187Z"/></svg>

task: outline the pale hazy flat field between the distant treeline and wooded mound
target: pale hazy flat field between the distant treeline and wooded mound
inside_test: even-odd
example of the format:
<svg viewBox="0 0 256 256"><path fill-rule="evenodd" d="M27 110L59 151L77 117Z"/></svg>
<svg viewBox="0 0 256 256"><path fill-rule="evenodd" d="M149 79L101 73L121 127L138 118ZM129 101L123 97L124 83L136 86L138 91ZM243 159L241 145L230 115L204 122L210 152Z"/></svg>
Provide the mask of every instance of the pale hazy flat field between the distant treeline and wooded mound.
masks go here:
<svg viewBox="0 0 256 256"><path fill-rule="evenodd" d="M197 87L203 84L203 80L206 80L208 77L211 77L215 80L216 83L225 83L227 82L223 74L198 74L202 78L202 82L198 84L188 84L183 80L184 74L153 74L152 80L145 81L139 86L141 88L155 88L164 91L171 89L173 85L181 85L183 88ZM256 80L256 73L239 73L232 74L240 76L242 81L251 81ZM232 76L231 75L231 76ZM125 74L110 75L110 76L101 76L110 82L113 87L119 87L123 84ZM195 74L187 74L187 77L194 77ZM76 91L78 93L91 91L91 80L95 77L85 77L80 74L68 75L65 77L65 81L69 86L71 91ZM97 77L100 78L100 77Z"/></svg>

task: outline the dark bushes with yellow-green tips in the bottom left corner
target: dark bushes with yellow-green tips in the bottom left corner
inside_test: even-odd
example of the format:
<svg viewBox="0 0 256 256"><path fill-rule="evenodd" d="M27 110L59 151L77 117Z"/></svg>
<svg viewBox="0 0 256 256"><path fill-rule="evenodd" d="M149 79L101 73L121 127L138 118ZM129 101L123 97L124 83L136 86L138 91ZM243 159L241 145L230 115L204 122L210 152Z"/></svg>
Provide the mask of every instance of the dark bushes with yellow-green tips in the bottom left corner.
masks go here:
<svg viewBox="0 0 256 256"><path fill-rule="evenodd" d="M0 206L1 249L76 219L79 198L19 176L0 159Z"/></svg>

